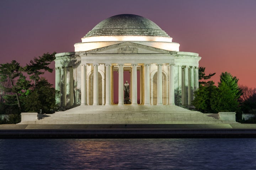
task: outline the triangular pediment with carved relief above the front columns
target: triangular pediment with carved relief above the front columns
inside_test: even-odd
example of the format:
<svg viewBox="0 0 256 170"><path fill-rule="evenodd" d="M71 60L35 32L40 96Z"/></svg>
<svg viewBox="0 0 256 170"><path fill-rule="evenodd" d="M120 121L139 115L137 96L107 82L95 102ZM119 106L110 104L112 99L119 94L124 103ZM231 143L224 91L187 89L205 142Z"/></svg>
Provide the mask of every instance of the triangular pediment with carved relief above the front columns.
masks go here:
<svg viewBox="0 0 256 170"><path fill-rule="evenodd" d="M81 54L176 54L175 51L155 48L152 46L124 42L105 46L88 51L81 51Z"/></svg>

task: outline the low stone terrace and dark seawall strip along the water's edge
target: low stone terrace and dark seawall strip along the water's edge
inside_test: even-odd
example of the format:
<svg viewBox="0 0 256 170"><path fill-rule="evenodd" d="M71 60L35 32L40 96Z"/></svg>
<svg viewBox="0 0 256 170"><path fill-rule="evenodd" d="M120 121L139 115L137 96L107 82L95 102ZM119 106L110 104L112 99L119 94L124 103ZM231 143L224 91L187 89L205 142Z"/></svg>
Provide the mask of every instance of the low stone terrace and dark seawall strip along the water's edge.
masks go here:
<svg viewBox="0 0 256 170"><path fill-rule="evenodd" d="M0 125L0 138L256 138L256 124Z"/></svg>

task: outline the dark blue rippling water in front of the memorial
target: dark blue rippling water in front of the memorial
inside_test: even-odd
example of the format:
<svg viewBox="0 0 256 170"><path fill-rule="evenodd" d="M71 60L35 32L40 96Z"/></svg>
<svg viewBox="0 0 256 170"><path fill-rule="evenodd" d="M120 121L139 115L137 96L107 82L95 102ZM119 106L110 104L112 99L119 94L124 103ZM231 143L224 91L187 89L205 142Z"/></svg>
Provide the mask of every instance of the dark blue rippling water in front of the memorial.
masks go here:
<svg viewBox="0 0 256 170"><path fill-rule="evenodd" d="M0 139L0 169L256 169L256 139Z"/></svg>

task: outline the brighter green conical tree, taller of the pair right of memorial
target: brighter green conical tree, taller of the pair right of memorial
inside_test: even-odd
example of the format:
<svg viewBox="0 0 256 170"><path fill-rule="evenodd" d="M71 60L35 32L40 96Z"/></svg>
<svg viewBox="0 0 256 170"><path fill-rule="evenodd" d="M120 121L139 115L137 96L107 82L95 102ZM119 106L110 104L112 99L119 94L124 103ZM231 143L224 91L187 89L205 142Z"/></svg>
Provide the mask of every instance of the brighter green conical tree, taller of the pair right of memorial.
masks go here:
<svg viewBox="0 0 256 170"><path fill-rule="evenodd" d="M217 91L214 91L211 98L212 110L220 111L236 111L239 106L238 99L241 90L238 86L238 79L230 73L225 72L220 75Z"/></svg>

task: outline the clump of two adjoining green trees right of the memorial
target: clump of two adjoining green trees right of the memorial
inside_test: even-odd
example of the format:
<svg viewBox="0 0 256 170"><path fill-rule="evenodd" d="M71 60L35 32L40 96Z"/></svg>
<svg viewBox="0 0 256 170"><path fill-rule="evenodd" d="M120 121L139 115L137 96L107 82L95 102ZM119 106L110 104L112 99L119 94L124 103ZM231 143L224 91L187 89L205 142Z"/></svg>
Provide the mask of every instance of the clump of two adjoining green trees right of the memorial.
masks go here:
<svg viewBox="0 0 256 170"><path fill-rule="evenodd" d="M194 92L192 104L203 113L218 113L220 111L236 111L239 106L238 99L241 89L238 79L230 73L220 75L218 87L212 81L201 84Z"/></svg>

